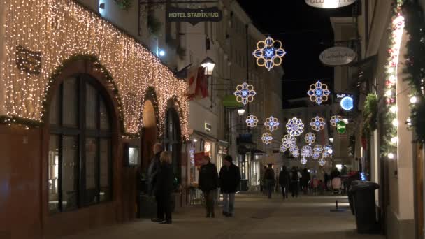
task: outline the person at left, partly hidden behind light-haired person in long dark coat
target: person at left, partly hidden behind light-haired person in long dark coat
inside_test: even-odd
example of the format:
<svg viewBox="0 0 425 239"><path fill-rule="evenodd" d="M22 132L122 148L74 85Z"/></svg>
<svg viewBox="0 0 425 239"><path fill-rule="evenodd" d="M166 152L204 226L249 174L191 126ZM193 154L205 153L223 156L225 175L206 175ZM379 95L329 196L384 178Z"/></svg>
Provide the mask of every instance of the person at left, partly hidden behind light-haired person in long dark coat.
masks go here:
<svg viewBox="0 0 425 239"><path fill-rule="evenodd" d="M161 168L161 162L159 158L161 157L162 145L160 143L154 144L153 147L154 157L150 160L149 167L147 168L147 191L149 196L155 195L157 191L157 175ZM161 210L159 208L159 198L155 195L155 201L157 201L157 217L152 219L152 222L161 222L164 220L164 215L161 215Z"/></svg>

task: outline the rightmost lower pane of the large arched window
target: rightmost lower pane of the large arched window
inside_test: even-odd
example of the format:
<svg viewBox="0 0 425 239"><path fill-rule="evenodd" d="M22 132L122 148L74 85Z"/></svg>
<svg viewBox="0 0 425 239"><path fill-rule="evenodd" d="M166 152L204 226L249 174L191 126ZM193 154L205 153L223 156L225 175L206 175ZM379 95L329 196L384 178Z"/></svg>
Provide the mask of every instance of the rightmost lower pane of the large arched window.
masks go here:
<svg viewBox="0 0 425 239"><path fill-rule="evenodd" d="M101 139L101 155L100 155L100 201L109 201L111 198L111 189L110 189L110 140Z"/></svg>

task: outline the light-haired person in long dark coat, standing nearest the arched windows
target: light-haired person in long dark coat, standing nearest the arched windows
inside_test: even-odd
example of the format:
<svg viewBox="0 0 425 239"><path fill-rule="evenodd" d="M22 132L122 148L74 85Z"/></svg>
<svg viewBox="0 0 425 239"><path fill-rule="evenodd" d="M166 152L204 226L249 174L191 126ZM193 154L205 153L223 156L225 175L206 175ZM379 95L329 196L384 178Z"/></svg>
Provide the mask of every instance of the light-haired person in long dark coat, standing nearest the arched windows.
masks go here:
<svg viewBox="0 0 425 239"><path fill-rule="evenodd" d="M155 196L158 198L158 221L160 224L171 224L171 193L174 187L174 172L171 165L171 153L161 152L160 170L157 173Z"/></svg>

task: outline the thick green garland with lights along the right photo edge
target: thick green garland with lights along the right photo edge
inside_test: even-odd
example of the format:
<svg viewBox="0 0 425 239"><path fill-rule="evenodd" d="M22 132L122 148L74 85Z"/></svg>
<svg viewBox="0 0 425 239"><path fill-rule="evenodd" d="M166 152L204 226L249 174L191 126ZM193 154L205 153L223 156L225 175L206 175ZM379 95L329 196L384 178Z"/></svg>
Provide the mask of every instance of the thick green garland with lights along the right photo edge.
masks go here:
<svg viewBox="0 0 425 239"><path fill-rule="evenodd" d="M408 80L411 94L419 99L419 102L412 105L411 120L415 129L416 140L425 142L425 22L422 13L422 6L417 2L405 1L403 3L403 16L405 17L405 29L410 38L406 54L405 73L408 73Z"/></svg>

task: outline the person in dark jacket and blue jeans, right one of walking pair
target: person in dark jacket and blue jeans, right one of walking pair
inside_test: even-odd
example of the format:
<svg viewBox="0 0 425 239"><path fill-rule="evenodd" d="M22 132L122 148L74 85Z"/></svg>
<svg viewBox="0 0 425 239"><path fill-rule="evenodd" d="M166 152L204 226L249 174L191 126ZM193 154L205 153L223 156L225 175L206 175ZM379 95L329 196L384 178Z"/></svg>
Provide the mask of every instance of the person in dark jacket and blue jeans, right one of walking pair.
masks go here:
<svg viewBox="0 0 425 239"><path fill-rule="evenodd" d="M235 193L240 183L239 167L233 164L230 155L224 157L223 166L220 169L220 190L223 194L223 215L233 217L235 210Z"/></svg>

